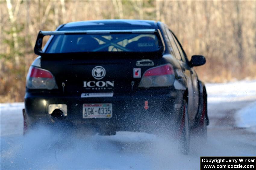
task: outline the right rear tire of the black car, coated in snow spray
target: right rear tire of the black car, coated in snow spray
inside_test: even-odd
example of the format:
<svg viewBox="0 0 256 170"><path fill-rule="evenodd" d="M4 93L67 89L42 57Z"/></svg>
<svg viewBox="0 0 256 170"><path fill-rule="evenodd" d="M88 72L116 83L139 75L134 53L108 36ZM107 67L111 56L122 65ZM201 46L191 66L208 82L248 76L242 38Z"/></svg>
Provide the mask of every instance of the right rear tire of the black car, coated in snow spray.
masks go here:
<svg viewBox="0 0 256 170"><path fill-rule="evenodd" d="M189 115L188 115L188 106L186 100L183 99L183 104L181 106L182 120L181 120L181 128L180 128L180 143L181 143L181 152L184 155L189 154L189 141L190 141L190 133L189 133Z"/></svg>

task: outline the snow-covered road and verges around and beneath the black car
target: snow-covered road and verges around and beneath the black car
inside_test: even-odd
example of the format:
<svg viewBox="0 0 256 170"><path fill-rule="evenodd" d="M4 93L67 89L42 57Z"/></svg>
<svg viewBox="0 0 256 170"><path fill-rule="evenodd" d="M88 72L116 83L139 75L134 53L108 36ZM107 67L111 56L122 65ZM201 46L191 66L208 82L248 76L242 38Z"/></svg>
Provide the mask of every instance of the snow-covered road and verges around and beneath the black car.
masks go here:
<svg viewBox="0 0 256 170"><path fill-rule="evenodd" d="M23 103L0 105L0 169L199 169L200 156L256 156L256 82L207 84L208 140L189 155L147 133L84 137L41 128L22 136Z"/></svg>

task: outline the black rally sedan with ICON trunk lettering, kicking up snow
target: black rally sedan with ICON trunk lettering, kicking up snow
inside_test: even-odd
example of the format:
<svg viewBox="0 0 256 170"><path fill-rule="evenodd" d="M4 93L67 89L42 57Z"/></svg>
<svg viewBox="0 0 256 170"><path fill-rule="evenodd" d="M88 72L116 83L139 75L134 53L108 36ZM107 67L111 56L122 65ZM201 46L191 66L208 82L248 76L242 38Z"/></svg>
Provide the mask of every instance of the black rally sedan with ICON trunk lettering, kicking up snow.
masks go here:
<svg viewBox="0 0 256 170"><path fill-rule="evenodd" d="M42 49L43 37L51 36ZM24 127L60 124L113 135L171 133L189 147L206 134L207 94L186 53L162 22L95 20L39 31L26 84Z"/></svg>

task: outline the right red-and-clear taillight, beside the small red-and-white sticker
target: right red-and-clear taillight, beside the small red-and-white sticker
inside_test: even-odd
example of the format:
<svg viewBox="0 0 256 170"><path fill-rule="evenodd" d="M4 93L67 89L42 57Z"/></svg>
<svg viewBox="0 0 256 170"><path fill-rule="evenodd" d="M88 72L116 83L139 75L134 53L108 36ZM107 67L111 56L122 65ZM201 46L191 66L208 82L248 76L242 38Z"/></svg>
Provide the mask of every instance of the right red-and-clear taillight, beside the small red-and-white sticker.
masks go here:
<svg viewBox="0 0 256 170"><path fill-rule="evenodd" d="M167 87L173 85L174 71L171 64L148 69L142 76L139 87Z"/></svg>

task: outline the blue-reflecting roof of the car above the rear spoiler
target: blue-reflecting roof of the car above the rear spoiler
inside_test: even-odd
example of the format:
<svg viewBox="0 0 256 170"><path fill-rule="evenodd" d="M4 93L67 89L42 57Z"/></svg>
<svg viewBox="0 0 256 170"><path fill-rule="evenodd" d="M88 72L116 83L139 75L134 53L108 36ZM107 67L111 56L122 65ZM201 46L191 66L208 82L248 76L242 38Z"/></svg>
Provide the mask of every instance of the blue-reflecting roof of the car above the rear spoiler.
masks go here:
<svg viewBox="0 0 256 170"><path fill-rule="evenodd" d="M156 21L135 19L105 19L69 22L58 30L118 30L118 29L157 29Z"/></svg>

